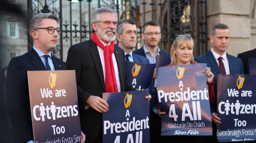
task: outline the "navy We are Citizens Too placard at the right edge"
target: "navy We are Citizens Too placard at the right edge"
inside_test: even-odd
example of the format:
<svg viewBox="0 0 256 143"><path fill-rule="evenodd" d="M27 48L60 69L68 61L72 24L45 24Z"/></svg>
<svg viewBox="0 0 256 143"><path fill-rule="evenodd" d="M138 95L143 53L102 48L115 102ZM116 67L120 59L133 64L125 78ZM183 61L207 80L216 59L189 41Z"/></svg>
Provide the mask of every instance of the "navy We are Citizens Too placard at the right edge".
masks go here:
<svg viewBox="0 0 256 143"><path fill-rule="evenodd" d="M256 140L256 75L218 74L219 142Z"/></svg>

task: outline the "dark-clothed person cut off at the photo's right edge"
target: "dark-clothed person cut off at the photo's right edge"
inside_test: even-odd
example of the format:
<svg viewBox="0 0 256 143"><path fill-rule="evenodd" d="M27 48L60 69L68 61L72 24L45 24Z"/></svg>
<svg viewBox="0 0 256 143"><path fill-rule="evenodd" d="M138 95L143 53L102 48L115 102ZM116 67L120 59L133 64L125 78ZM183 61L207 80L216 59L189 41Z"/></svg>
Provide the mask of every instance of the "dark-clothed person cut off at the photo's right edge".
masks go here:
<svg viewBox="0 0 256 143"><path fill-rule="evenodd" d="M249 58L256 58L256 48L244 53L239 53L237 58L240 58L243 61L244 74L249 74Z"/></svg>

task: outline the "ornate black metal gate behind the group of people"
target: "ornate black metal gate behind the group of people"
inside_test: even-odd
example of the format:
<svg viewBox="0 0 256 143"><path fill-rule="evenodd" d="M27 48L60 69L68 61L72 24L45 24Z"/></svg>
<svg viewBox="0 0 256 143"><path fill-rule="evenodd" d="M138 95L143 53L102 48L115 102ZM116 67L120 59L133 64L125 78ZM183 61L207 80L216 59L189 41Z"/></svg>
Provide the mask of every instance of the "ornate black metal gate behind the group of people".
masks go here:
<svg viewBox="0 0 256 143"><path fill-rule="evenodd" d="M72 44L90 39L90 16L98 7L116 9L118 21L133 19L138 26L156 21L162 27L160 48L170 51L177 34L189 33L195 41L195 55L207 50L206 0L27 0L28 20L38 13L52 13L60 18L62 34L53 54L65 60ZM150 10L146 10L150 7ZM29 37L29 33L28 33ZM140 34L138 42L142 42ZM141 43L142 45L143 43ZM32 42L28 39L28 47Z"/></svg>

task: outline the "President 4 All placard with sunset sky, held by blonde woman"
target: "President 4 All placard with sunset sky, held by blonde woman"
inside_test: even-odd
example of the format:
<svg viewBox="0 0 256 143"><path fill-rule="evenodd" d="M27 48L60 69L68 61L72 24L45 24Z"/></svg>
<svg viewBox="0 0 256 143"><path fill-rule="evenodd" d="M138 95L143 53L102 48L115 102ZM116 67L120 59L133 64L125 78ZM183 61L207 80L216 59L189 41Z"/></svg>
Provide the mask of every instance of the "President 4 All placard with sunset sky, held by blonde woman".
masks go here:
<svg viewBox="0 0 256 143"><path fill-rule="evenodd" d="M212 135L206 64L160 67L156 72L162 136Z"/></svg>

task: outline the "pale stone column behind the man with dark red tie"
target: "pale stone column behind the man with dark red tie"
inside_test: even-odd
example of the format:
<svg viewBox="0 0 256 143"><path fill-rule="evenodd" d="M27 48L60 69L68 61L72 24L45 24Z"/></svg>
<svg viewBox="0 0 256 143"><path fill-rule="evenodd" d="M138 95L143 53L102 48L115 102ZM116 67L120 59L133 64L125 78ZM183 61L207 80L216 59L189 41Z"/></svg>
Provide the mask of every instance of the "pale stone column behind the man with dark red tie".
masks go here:
<svg viewBox="0 0 256 143"><path fill-rule="evenodd" d="M230 28L230 45L227 52L233 56L251 50L250 0L207 0L207 32L216 23ZM212 47L208 40L208 49ZM253 46L254 47L254 46Z"/></svg>

